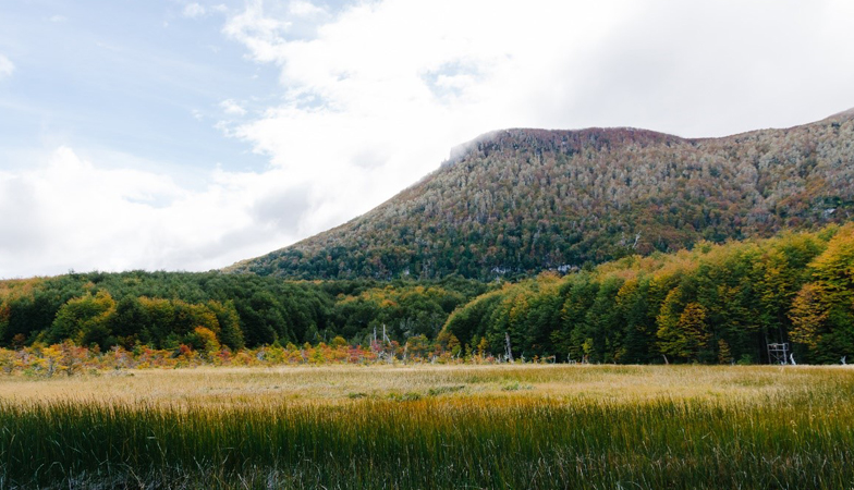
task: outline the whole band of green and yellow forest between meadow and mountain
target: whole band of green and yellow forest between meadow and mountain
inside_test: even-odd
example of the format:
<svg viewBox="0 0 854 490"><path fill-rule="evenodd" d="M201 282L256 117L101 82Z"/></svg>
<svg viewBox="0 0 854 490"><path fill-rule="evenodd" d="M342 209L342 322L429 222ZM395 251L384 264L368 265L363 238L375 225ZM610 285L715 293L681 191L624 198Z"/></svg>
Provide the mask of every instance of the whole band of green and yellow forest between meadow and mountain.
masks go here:
<svg viewBox="0 0 854 490"><path fill-rule="evenodd" d="M838 364L854 354L854 224L700 242L515 283L220 271L0 282L7 348L369 346L377 335L393 353L498 357L509 338L516 359L618 364L762 364L767 343L791 342L798 363Z"/></svg>

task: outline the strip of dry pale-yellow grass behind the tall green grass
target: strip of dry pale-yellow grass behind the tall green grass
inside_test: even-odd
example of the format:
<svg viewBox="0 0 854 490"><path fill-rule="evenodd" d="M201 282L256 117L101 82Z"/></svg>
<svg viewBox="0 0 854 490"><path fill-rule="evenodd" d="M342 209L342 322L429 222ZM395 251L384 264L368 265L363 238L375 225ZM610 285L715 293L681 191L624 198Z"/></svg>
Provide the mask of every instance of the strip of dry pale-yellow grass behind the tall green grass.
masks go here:
<svg viewBox="0 0 854 490"><path fill-rule="evenodd" d="M306 405L394 396L525 397L550 402L747 403L849 391L854 369L807 366L328 366L114 371L0 377L0 399L168 405ZM847 390L846 390L847 389Z"/></svg>

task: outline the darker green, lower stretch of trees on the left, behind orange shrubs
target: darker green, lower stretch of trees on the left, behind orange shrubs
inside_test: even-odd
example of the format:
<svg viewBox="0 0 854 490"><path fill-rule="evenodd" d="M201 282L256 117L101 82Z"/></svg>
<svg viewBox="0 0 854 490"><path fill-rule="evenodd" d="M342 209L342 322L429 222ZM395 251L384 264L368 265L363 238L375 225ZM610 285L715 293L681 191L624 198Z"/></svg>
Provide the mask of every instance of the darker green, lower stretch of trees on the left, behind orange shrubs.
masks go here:
<svg viewBox="0 0 854 490"><path fill-rule="evenodd" d="M392 340L432 339L451 311L487 289L459 278L418 284L293 282L221 272L10 280L0 282L0 346L71 340L101 351L182 344L204 350L208 332L230 350L316 345L338 335L367 345L383 328Z"/></svg>

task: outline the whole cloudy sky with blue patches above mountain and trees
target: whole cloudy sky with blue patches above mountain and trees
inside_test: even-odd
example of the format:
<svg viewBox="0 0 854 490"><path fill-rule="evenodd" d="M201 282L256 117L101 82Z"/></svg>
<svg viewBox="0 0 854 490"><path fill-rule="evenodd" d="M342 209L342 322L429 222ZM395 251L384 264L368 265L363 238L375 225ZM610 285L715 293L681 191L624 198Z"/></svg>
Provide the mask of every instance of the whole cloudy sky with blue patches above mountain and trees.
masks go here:
<svg viewBox="0 0 854 490"><path fill-rule="evenodd" d="M0 278L229 266L509 127L854 107L849 0L0 0Z"/></svg>

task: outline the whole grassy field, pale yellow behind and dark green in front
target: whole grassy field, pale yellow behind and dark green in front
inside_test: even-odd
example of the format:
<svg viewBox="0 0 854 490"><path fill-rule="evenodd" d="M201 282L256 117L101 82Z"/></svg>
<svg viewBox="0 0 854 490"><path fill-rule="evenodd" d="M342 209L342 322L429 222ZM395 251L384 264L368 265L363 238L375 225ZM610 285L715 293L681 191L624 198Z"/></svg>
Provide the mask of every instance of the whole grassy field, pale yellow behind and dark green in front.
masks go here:
<svg viewBox="0 0 854 490"><path fill-rule="evenodd" d="M815 488L844 367L207 368L0 377L0 488Z"/></svg>

